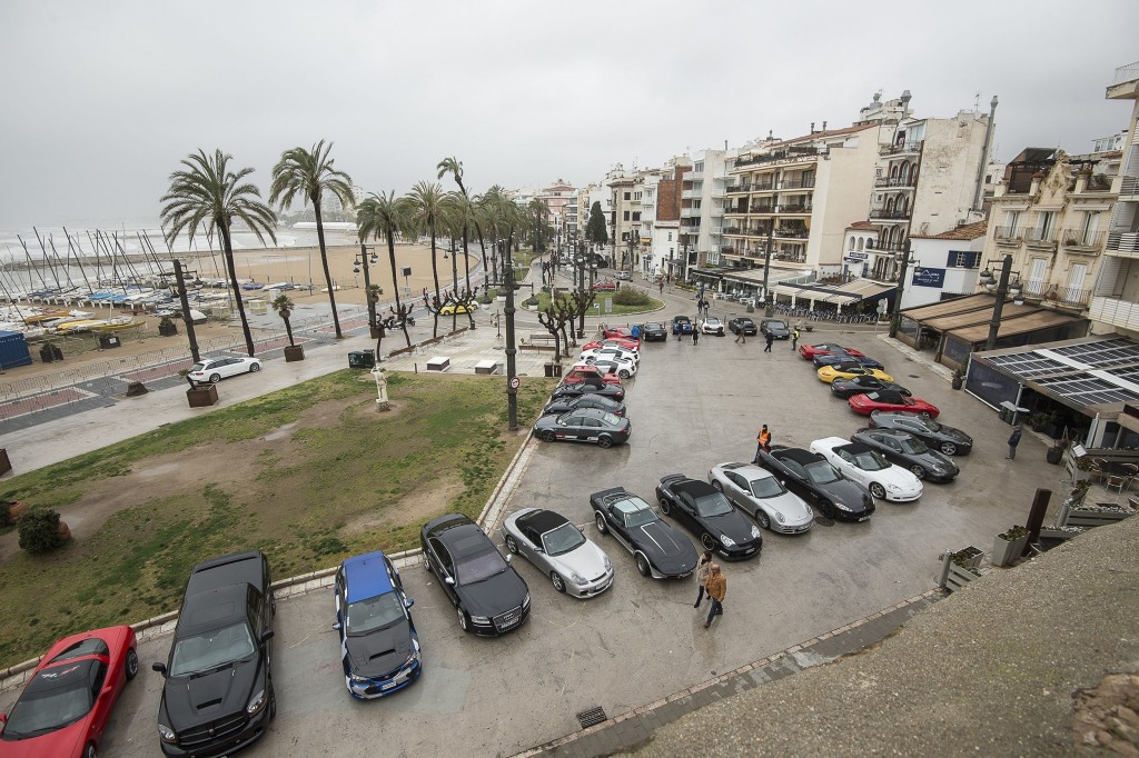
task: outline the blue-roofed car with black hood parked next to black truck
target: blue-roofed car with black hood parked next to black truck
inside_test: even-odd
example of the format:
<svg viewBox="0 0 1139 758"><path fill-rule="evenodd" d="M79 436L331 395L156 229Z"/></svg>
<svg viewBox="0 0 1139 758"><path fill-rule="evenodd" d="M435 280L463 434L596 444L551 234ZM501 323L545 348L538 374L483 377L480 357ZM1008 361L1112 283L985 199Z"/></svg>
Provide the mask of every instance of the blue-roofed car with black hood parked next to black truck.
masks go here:
<svg viewBox="0 0 1139 758"><path fill-rule="evenodd" d="M344 683L353 698L399 692L423 673L412 600L382 552L355 555L336 572L336 624Z"/></svg>

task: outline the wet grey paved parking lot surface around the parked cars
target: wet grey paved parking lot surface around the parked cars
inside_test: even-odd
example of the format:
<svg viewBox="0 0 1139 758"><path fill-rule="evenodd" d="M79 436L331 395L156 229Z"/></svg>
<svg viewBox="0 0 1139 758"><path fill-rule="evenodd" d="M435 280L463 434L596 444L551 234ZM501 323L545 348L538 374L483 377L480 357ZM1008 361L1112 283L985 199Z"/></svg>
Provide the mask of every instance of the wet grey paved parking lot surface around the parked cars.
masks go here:
<svg viewBox="0 0 1139 758"><path fill-rule="evenodd" d="M765 534L759 559L724 566L726 611L711 631L693 609L694 579L641 578L632 559L591 524L587 536L616 567L614 587L575 601L518 560L533 613L498 640L464 635L443 593L429 586L432 577L407 568L425 673L378 702L360 703L345 692L329 626L330 591L290 599L279 605L273 643L278 717L246 755L515 753L580 728L575 714L587 708L620 714L920 594L934 586L943 549L989 550L993 534L1023 522L1036 486L1057 484L1060 470L1044 463L1040 443L1025 438L1015 464L1005 461L1008 427L995 414L871 332L817 329L804 337L878 357L915 395L941 406L942 420L970 432L976 447L958 459L958 480L927 485L917 503L879 503L866 524L816 526L794 537ZM705 337L695 347L674 338L646 345L641 371L626 382L631 444L605 451L531 440L508 510L540 505L588 524L588 496L597 489L622 485L652 500L666 473L705 477L714 463L751 460L761 423L771 427L776 444L802 446L861 426L788 343L770 354L762 349L761 339L738 345L730 336ZM115 711L104 755L157 755L161 677L149 665L165 657L169 643L140 649L144 672ZM14 695L0 697L0 707L7 709Z"/></svg>

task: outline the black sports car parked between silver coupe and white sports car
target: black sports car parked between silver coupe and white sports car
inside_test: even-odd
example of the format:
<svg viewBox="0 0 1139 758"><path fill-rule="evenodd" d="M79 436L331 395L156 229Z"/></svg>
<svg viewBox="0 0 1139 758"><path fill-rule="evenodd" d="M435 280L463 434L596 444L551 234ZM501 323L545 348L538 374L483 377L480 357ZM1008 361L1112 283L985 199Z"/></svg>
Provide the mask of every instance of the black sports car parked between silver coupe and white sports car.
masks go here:
<svg viewBox="0 0 1139 758"><path fill-rule="evenodd" d="M828 519L866 521L874 513L874 497L862 485L844 479L827 459L801 447L773 445L760 451L760 465L786 487L813 504Z"/></svg>

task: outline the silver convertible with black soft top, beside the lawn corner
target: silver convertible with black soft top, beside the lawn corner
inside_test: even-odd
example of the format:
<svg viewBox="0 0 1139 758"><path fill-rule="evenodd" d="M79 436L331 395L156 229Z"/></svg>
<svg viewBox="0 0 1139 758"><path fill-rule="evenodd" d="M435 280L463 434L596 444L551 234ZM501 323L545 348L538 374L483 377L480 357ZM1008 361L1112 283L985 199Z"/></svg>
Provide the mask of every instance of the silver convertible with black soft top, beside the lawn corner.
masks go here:
<svg viewBox="0 0 1139 758"><path fill-rule="evenodd" d="M613 584L608 555L560 513L524 508L506 518L502 537L507 550L533 563L558 592L592 598Z"/></svg>

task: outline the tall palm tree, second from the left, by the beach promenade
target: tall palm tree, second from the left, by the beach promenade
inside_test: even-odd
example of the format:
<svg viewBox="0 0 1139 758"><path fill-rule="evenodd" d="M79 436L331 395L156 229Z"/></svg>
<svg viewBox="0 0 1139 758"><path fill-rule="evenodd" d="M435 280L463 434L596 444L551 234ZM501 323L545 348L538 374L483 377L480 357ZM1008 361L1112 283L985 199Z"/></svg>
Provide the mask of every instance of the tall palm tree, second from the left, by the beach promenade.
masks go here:
<svg viewBox="0 0 1139 758"><path fill-rule="evenodd" d="M320 262L325 266L325 283L328 285L328 304L333 307L333 326L336 338L341 339L341 319L336 313L336 296L333 294L333 274L328 271L328 252L325 248L325 222L320 213L320 201L325 192L335 195L345 208L355 203L352 196L352 178L343 171L333 168L334 160L328 157L333 149L325 140L312 146L312 150L295 147L281 153L281 159L273 166L273 183L269 189L269 201L280 203L284 209L293 203L298 193L305 203L311 203L317 214L317 241L320 244Z"/></svg>

